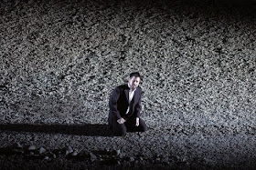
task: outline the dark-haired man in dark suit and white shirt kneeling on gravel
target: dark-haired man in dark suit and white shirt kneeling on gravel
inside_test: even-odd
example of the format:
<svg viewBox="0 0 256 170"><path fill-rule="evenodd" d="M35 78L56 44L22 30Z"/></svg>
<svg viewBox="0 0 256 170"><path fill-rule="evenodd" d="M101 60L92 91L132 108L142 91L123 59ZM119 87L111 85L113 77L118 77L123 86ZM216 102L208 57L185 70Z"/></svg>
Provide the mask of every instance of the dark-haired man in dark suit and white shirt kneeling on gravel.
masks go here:
<svg viewBox="0 0 256 170"><path fill-rule="evenodd" d="M139 86L141 75L130 74L127 85L119 85L110 96L108 122L113 135L125 135L126 132L144 132L148 130L141 115L142 89Z"/></svg>

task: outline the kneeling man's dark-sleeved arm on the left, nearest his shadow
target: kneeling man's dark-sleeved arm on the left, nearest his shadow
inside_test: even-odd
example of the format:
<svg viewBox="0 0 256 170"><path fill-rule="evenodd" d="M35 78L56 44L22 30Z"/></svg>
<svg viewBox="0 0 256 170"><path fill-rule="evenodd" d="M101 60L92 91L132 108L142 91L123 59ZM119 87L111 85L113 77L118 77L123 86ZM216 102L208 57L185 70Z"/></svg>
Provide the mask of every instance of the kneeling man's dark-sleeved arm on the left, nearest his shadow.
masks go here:
<svg viewBox="0 0 256 170"><path fill-rule="evenodd" d="M120 119L121 118L121 115L119 113L119 111L117 110L117 101L119 99L119 96L120 96L120 91L119 91L119 88L116 87L113 91L112 91L112 95L110 97L110 110L112 112L112 115L114 117L116 117L117 119Z"/></svg>

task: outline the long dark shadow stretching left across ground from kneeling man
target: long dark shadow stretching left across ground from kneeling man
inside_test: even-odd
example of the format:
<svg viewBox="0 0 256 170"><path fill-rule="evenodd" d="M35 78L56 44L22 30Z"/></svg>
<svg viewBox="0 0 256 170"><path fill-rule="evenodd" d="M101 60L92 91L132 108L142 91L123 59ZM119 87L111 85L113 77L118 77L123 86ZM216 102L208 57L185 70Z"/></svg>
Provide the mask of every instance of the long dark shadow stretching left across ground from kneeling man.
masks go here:
<svg viewBox="0 0 256 170"><path fill-rule="evenodd" d="M66 135L111 136L108 125L28 125L7 124L0 125L1 131L34 132Z"/></svg>

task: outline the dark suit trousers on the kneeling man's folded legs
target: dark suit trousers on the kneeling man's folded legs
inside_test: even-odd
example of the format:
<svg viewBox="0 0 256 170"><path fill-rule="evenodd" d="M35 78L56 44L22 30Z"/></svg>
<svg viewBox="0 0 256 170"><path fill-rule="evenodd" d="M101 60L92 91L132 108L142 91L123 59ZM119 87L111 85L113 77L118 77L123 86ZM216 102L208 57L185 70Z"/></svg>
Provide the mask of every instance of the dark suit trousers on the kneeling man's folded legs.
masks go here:
<svg viewBox="0 0 256 170"><path fill-rule="evenodd" d="M136 118L127 119L124 124L119 124L115 118L109 119L109 125L113 135L123 136L126 132L145 132L148 127L143 119L139 118L139 125L136 126Z"/></svg>

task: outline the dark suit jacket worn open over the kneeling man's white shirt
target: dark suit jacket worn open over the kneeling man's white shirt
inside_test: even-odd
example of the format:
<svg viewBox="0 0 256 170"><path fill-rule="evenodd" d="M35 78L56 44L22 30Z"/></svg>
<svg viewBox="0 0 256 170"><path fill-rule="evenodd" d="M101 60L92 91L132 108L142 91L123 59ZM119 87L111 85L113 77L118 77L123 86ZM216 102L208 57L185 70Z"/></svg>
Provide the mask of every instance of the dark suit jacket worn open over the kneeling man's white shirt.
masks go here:
<svg viewBox="0 0 256 170"><path fill-rule="evenodd" d="M110 113L109 117L120 119L123 117L124 119L140 117L141 115L141 99L142 99L142 88L137 87L133 99L129 105L129 86L128 85L119 85L113 91L110 96L109 107ZM126 111L128 106L130 106L130 111L126 115Z"/></svg>

